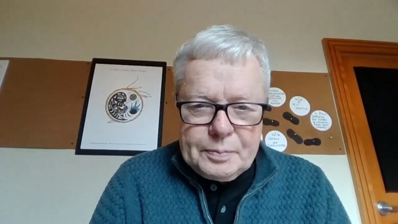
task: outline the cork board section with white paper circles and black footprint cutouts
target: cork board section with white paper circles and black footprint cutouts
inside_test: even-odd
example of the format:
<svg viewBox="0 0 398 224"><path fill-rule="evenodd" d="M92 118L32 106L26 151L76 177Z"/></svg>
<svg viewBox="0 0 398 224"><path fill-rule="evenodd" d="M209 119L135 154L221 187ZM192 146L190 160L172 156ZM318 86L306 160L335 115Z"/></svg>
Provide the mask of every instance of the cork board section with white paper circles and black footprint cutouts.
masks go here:
<svg viewBox="0 0 398 224"><path fill-rule="evenodd" d="M263 141L288 154L345 154L327 73L273 71Z"/></svg>

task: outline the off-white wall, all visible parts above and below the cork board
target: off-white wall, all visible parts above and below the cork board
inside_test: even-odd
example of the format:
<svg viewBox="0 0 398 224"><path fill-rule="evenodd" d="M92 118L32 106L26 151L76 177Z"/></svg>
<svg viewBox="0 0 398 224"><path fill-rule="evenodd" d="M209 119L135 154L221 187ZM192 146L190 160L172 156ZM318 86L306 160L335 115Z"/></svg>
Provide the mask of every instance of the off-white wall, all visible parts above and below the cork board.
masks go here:
<svg viewBox="0 0 398 224"><path fill-rule="evenodd" d="M147 59L170 65L183 41L223 23L261 36L272 70L326 72L324 37L397 42L398 1L2 0L0 57ZM303 157L324 169L353 223L359 223L346 158ZM126 159L0 148L0 222L87 223Z"/></svg>

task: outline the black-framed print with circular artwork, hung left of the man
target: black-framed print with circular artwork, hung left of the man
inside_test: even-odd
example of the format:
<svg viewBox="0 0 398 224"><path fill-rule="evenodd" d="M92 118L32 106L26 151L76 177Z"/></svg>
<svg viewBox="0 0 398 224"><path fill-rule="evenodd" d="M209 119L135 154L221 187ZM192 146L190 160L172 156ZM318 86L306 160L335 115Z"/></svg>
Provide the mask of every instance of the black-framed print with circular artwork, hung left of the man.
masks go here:
<svg viewBox="0 0 398 224"><path fill-rule="evenodd" d="M161 145L166 62L94 58L77 155L126 155Z"/></svg>

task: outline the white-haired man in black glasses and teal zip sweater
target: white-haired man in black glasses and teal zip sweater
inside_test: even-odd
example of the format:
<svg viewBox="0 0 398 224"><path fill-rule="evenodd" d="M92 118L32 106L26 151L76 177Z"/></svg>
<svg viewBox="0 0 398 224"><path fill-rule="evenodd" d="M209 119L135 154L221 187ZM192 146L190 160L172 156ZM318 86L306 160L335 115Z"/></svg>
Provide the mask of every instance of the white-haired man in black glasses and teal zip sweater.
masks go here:
<svg viewBox="0 0 398 224"><path fill-rule="evenodd" d="M261 40L214 26L173 64L180 139L123 163L90 223L349 223L317 166L260 142L270 69Z"/></svg>

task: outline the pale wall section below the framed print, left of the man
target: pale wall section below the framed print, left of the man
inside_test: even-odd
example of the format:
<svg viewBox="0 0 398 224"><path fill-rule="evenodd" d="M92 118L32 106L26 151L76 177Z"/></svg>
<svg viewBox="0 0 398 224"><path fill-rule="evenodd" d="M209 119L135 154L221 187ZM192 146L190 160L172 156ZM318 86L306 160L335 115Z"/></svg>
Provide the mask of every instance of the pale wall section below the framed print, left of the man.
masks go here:
<svg viewBox="0 0 398 224"><path fill-rule="evenodd" d="M88 223L109 179L128 158L0 148L0 223Z"/></svg>

